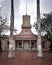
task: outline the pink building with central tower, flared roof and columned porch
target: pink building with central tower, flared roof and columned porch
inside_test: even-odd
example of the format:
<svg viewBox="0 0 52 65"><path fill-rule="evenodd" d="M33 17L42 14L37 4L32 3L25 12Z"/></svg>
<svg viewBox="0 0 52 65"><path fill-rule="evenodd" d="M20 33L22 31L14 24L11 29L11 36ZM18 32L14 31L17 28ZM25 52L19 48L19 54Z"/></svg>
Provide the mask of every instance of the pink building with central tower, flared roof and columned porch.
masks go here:
<svg viewBox="0 0 52 65"><path fill-rule="evenodd" d="M30 15L23 15L23 25L22 31L18 35L14 35L15 40L15 50L28 50L36 51L37 50L37 39L38 35L35 35L31 31L30 25ZM47 51L49 44L47 39L42 39L42 48L43 51ZM8 50L9 49L9 37L4 36L3 39L0 38L0 49Z"/></svg>

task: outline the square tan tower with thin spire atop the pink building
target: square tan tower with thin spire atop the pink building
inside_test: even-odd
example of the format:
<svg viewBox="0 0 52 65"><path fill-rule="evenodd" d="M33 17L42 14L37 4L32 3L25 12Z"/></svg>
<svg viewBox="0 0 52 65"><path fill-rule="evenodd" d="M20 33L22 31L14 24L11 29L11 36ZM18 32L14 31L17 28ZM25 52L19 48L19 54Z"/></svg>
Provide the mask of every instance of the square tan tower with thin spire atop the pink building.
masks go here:
<svg viewBox="0 0 52 65"><path fill-rule="evenodd" d="M26 4L26 15L23 15L22 19L23 19L22 28L31 28L30 15L27 14L27 4Z"/></svg>

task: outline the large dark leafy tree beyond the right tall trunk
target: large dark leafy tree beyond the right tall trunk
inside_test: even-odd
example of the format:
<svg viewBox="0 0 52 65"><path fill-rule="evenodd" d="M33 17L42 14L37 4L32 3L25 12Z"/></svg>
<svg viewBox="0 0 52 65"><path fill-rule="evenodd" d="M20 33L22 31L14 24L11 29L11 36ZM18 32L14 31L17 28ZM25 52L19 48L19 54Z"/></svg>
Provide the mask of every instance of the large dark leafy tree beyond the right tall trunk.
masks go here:
<svg viewBox="0 0 52 65"><path fill-rule="evenodd" d="M52 47L52 12L43 14L41 30L47 32L46 37L51 42L50 46Z"/></svg>

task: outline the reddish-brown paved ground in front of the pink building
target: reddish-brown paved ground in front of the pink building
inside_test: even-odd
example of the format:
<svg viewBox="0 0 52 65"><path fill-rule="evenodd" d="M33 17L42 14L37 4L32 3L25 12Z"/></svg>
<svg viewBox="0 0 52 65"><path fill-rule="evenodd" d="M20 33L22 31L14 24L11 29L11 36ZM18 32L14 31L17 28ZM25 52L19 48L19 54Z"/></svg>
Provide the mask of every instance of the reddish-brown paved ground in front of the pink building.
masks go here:
<svg viewBox="0 0 52 65"><path fill-rule="evenodd" d="M52 65L52 53L43 52L44 58L37 58L37 52L15 51L8 59L8 52L0 52L0 65Z"/></svg>

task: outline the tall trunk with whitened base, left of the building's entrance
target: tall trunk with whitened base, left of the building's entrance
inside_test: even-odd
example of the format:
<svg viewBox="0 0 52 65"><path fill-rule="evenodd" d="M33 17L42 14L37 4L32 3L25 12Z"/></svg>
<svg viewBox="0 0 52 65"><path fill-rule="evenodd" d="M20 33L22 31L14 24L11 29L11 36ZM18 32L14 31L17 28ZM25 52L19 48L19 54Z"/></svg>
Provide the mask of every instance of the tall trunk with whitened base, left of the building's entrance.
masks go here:
<svg viewBox="0 0 52 65"><path fill-rule="evenodd" d="M14 31L14 5L13 0L11 0L11 19L10 19L10 37L9 37L9 55L8 58L13 58L14 53L13 50L15 50L15 42L13 39L13 31Z"/></svg>

